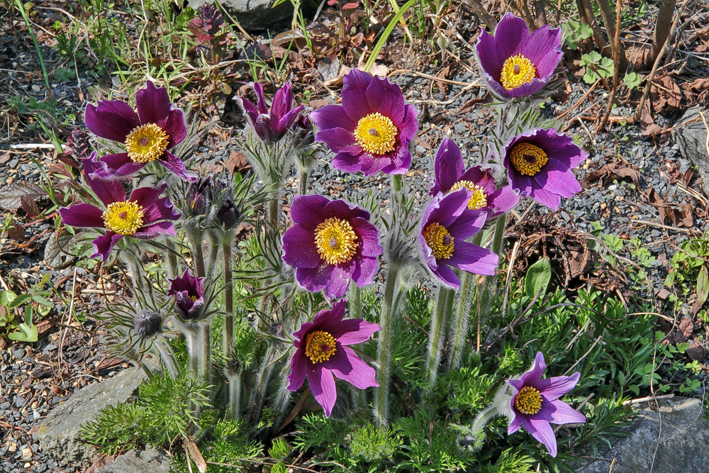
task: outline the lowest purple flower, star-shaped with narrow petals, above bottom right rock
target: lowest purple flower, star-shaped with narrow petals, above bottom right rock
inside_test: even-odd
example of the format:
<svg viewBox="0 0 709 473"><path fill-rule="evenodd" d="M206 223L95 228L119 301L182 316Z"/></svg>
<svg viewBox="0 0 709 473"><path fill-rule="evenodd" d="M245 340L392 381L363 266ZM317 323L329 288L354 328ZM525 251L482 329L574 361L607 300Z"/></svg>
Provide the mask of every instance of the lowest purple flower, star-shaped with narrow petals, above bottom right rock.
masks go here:
<svg viewBox="0 0 709 473"><path fill-rule="evenodd" d="M514 417L507 433L514 433L524 426L532 437L547 446L549 455L557 456L557 438L549 423L569 424L586 422L586 416L571 408L561 396L574 389L581 374L556 376L542 379L547 368L542 352L537 352L534 365L520 379L509 379L513 391L510 408Z"/></svg>

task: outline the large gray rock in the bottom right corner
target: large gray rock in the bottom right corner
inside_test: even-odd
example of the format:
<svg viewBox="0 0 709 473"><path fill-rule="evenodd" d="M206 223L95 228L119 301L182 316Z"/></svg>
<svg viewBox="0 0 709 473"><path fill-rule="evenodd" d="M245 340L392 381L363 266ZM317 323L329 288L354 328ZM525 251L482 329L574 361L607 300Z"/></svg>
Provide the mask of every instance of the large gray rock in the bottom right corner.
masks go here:
<svg viewBox="0 0 709 473"><path fill-rule="evenodd" d="M700 399L674 397L644 408L613 448L591 462L576 464L576 473L703 473L709 472L709 421ZM661 428L661 432L660 432ZM655 449L657 447L657 452ZM653 462L654 460L654 462Z"/></svg>

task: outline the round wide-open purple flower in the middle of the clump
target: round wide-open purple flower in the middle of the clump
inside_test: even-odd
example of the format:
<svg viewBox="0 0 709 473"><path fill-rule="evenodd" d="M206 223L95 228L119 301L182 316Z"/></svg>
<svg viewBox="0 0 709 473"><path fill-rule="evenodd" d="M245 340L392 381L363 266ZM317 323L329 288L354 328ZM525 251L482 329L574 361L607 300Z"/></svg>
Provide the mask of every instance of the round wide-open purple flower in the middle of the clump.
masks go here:
<svg viewBox="0 0 709 473"><path fill-rule="evenodd" d="M283 260L296 267L296 279L308 291L325 289L328 298L342 297L350 280L371 284L381 255L379 231L369 212L323 196L295 196L295 225L283 235Z"/></svg>

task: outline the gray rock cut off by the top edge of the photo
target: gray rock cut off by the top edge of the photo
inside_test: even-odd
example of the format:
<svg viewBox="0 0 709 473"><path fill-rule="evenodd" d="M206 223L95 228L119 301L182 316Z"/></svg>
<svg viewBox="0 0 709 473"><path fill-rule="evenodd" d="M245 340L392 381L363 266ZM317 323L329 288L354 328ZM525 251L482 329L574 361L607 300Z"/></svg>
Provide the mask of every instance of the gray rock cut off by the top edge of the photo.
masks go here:
<svg viewBox="0 0 709 473"><path fill-rule="evenodd" d="M293 18L293 5L290 0L282 2L274 8L277 0L223 0L231 15L245 30L267 30L280 21ZM189 0L189 6L197 9L203 4L211 4L213 0ZM224 18L225 20L227 18Z"/></svg>

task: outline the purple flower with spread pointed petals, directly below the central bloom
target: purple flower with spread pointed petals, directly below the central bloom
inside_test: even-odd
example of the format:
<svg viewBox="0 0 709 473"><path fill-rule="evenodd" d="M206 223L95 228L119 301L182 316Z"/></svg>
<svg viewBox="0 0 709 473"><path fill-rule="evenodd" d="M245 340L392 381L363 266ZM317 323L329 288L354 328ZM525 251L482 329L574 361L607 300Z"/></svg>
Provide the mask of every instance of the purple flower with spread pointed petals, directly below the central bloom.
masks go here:
<svg viewBox="0 0 709 473"><path fill-rule="evenodd" d="M306 377L316 401L330 417L335 401L335 377L359 389L379 386L374 379L374 368L363 362L350 345L369 340L381 327L361 318L343 321L345 301L335 302L333 308L320 311L312 322L301 325L293 334L296 353L291 358L288 389L297 391Z"/></svg>

